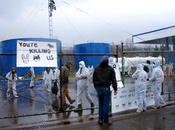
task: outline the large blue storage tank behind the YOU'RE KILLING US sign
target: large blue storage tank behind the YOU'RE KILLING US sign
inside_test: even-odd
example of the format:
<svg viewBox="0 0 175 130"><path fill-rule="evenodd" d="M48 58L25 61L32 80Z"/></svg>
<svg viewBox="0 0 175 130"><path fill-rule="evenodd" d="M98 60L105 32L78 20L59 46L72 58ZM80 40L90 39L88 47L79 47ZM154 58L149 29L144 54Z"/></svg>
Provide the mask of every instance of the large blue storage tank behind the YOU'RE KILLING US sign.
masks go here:
<svg viewBox="0 0 175 130"><path fill-rule="evenodd" d="M19 38L9 39L0 42L0 75L5 76L9 72L11 67L16 67L16 42L17 40L22 41L40 41L40 42L56 42L57 50L60 50L61 42L57 39L47 38ZM59 57L58 57L59 58ZM59 65L59 60L58 60ZM17 67L16 71L18 75L26 75L28 67ZM44 71L43 67L35 67L35 73L41 74Z"/></svg>

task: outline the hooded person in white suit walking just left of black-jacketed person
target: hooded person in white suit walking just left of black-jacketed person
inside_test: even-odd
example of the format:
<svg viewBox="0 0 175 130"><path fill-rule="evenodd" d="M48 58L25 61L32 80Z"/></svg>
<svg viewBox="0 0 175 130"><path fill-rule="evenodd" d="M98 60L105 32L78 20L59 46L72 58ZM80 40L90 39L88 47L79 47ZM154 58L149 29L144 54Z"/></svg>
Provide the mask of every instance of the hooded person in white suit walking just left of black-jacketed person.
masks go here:
<svg viewBox="0 0 175 130"><path fill-rule="evenodd" d="M85 94L88 102L90 103L91 107L94 107L94 103L92 101L92 97L90 96L89 92L88 92L88 82L89 82L89 70L88 68L86 68L85 66L85 62L84 61L80 61L79 62L79 69L76 73L76 80L77 80L77 105L78 108L77 110L81 110L82 109L82 97L83 94Z"/></svg>

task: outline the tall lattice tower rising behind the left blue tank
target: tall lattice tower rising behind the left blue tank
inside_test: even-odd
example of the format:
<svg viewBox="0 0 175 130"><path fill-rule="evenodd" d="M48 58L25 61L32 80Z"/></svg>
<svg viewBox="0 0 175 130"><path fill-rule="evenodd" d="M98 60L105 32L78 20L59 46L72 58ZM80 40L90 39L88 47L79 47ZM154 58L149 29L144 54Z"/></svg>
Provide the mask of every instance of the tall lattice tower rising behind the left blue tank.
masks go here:
<svg viewBox="0 0 175 130"><path fill-rule="evenodd" d="M52 23L52 13L56 10L54 0L48 0L48 15L49 15L49 37L53 38L53 23Z"/></svg>

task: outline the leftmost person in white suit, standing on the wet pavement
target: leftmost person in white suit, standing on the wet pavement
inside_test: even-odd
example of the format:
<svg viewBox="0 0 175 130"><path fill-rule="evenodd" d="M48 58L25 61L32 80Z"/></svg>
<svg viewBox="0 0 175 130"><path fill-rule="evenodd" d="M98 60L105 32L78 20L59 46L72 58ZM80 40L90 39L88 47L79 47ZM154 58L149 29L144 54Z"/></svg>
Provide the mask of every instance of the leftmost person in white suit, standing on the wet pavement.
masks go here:
<svg viewBox="0 0 175 130"><path fill-rule="evenodd" d="M17 98L18 97L16 92L17 74L14 67L12 67L11 71L7 73L6 79L8 80L7 97L10 97L10 93L12 91L13 96Z"/></svg>

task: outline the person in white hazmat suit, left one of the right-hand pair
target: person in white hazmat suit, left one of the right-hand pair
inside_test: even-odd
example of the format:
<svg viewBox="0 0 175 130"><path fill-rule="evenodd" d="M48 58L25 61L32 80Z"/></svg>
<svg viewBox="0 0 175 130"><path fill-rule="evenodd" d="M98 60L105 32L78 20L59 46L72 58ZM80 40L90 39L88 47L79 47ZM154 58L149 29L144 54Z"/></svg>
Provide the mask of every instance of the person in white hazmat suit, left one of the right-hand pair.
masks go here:
<svg viewBox="0 0 175 130"><path fill-rule="evenodd" d="M143 65L138 64L137 70L132 75L135 79L135 94L137 98L137 112L146 110L146 82L148 74L143 70Z"/></svg>

